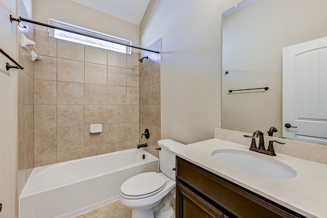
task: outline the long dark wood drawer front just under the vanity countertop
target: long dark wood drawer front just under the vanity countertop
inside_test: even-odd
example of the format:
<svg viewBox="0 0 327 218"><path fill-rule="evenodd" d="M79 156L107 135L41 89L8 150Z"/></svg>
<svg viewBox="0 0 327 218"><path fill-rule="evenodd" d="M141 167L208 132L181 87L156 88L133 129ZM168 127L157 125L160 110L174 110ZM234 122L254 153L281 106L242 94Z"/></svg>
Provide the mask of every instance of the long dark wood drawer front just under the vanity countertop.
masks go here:
<svg viewBox="0 0 327 218"><path fill-rule="evenodd" d="M226 210L228 214L251 218L299 217L180 157L176 157L176 163L176 180L179 183L198 193L202 198L213 201L218 205L218 209Z"/></svg>

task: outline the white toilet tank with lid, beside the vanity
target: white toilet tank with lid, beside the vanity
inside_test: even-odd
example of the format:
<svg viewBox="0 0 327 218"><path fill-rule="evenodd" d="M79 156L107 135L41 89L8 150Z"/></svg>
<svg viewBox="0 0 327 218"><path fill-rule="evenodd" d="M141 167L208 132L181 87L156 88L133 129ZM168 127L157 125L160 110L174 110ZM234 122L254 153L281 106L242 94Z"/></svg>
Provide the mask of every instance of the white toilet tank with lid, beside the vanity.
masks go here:
<svg viewBox="0 0 327 218"><path fill-rule="evenodd" d="M158 141L158 146L161 148L159 151L160 171L173 180L175 180L176 176L176 171L173 170L176 167L176 155L170 152L169 149L184 145L171 139Z"/></svg>

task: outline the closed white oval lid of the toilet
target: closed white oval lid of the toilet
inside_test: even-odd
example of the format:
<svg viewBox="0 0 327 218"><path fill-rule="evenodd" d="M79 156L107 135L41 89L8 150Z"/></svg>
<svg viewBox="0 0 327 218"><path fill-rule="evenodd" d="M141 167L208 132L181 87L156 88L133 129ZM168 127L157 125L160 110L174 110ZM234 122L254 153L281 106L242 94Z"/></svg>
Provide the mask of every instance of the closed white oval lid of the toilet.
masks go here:
<svg viewBox="0 0 327 218"><path fill-rule="evenodd" d="M155 172L137 174L122 184L121 193L132 199L145 198L161 191L166 183L166 179Z"/></svg>

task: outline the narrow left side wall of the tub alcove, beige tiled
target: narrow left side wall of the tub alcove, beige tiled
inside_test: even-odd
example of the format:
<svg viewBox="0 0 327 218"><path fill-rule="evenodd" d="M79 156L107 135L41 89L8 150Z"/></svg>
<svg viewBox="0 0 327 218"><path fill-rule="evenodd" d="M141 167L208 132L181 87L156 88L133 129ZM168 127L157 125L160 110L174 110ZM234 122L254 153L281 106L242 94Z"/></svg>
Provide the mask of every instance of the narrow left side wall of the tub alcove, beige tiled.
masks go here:
<svg viewBox="0 0 327 218"><path fill-rule="evenodd" d="M29 18L24 3L18 1L18 12ZM33 61L30 47L21 46L21 34L34 39L33 25L24 23L27 28L18 28L18 63L24 67L17 70L17 195L16 217L18 217L18 198L33 169L34 127L33 127ZM14 217L14 216L13 216Z"/></svg>

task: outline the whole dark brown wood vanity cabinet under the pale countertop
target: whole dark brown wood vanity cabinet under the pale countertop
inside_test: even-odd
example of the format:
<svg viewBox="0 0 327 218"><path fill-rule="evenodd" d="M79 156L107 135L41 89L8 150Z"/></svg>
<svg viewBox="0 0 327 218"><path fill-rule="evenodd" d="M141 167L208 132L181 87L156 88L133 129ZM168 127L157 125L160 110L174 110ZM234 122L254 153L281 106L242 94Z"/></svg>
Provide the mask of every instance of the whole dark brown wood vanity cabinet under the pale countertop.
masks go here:
<svg viewBox="0 0 327 218"><path fill-rule="evenodd" d="M176 218L303 217L176 157Z"/></svg>

